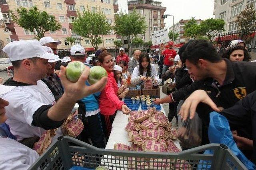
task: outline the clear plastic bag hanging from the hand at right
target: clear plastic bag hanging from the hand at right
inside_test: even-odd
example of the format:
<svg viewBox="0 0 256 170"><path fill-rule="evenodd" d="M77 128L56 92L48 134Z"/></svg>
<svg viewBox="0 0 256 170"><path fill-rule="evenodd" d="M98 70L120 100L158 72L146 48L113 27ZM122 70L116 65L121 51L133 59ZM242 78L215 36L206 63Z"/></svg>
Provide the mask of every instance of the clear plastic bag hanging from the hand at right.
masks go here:
<svg viewBox="0 0 256 170"><path fill-rule="evenodd" d="M177 111L178 108L180 107L177 107ZM198 114L196 113L193 119L187 119L186 121L182 121L179 117L178 122L178 139L182 147L193 148L200 146L202 141L202 121Z"/></svg>

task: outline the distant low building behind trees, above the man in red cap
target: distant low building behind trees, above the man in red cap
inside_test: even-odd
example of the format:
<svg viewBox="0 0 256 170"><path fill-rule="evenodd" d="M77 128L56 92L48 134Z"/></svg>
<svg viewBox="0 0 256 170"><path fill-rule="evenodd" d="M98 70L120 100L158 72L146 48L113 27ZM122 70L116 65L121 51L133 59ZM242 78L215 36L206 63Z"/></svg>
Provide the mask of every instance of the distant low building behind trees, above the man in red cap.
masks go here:
<svg viewBox="0 0 256 170"><path fill-rule="evenodd" d="M174 41L174 44L184 44L190 40L190 37L184 36L184 25L187 23L189 20L180 20L177 23L175 23L172 27L169 27L169 30L174 30L174 33L178 33L179 36L178 38ZM197 24L200 24L202 22L201 19L196 20Z"/></svg>

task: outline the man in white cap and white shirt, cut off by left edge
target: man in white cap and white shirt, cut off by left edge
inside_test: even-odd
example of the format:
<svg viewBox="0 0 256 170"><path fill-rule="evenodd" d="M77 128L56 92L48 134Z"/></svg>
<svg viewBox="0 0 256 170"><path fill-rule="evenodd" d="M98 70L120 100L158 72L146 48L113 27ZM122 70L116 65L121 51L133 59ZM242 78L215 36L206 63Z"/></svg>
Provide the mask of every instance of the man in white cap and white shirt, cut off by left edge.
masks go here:
<svg viewBox="0 0 256 170"><path fill-rule="evenodd" d="M14 88L0 85L0 95L8 94ZM5 124L5 107L8 105L8 101L0 98L0 124ZM38 153L5 134L0 131L0 169L28 169L39 157Z"/></svg>

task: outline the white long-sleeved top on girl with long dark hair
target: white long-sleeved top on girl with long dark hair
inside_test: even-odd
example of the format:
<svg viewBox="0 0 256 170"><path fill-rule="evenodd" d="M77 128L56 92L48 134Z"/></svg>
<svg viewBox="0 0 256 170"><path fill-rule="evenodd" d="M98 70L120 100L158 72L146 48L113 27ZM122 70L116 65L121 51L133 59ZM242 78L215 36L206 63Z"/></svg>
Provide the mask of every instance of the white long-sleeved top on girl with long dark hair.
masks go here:
<svg viewBox="0 0 256 170"><path fill-rule="evenodd" d="M133 72L132 72L131 82L132 82L132 80L137 79L138 76L140 76L139 66L140 66L140 65L138 65L138 66L136 66L136 67L134 68L134 70L133 70ZM158 85L158 84L161 83L161 80L160 80L159 77L157 76L156 67L154 66L154 64L150 64L150 66L151 66L151 75L150 75L150 77L151 77L152 79L156 80L156 83L154 84L154 85L156 86L156 85ZM147 72L144 71L143 74L142 74L142 76L145 76L145 77L146 77L146 74L147 74ZM140 82L142 82L142 81L140 81ZM142 82L142 84L144 84L144 82Z"/></svg>

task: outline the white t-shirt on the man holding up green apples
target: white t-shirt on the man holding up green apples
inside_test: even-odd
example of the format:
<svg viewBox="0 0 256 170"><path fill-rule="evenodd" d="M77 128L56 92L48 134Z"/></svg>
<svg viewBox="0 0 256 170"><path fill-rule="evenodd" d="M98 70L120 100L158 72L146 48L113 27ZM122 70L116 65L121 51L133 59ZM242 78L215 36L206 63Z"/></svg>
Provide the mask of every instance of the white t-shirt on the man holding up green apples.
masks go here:
<svg viewBox="0 0 256 170"><path fill-rule="evenodd" d="M55 104L54 96L47 85L39 80L36 85L18 86L1 98L9 102L6 106L6 123L10 131L20 141L24 138L41 137L44 129L32 126L33 114L42 105ZM56 137L62 135L61 128Z"/></svg>

